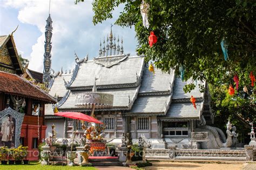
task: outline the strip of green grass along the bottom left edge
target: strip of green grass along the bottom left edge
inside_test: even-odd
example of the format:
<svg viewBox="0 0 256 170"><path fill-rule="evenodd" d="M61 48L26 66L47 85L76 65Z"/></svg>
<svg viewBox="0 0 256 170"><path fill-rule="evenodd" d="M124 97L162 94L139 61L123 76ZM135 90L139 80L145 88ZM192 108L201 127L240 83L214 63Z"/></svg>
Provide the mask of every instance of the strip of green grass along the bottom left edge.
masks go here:
<svg viewBox="0 0 256 170"><path fill-rule="evenodd" d="M37 169L52 169L52 170L65 170L65 169L86 169L86 170L95 170L95 167L79 167L79 166L61 166L61 165L45 165L42 166L39 162L29 162L28 165L0 165L0 169L15 169L15 170L37 170Z"/></svg>

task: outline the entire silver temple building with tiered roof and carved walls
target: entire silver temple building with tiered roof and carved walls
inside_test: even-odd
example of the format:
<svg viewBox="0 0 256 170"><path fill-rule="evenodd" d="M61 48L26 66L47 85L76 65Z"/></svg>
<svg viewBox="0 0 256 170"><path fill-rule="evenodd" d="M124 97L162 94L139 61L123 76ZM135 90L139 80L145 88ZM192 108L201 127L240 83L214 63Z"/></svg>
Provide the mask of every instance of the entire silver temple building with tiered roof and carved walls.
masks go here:
<svg viewBox="0 0 256 170"><path fill-rule="evenodd" d="M204 121L213 124L210 112L210 95L207 84L197 82L197 87L185 93L183 87L193 80L182 81L170 73L155 69L149 71L144 56L130 56L124 53L123 38L109 36L100 42L97 57L79 59L75 53L76 66L73 71L55 73L49 83L50 94L58 98L59 111L73 111L91 114L91 109L76 107L79 94L90 92L96 80L97 92L113 94L113 106L97 108L96 118L103 121L105 138L121 142L122 133L130 132L133 139L144 134L153 140L165 140L167 145L177 144L179 148L190 145L191 132ZM196 82L194 82L196 84ZM198 84L206 88L201 93ZM197 109L190 102L196 98ZM45 121L47 132L54 123L57 137L70 138L74 123L72 119L53 115L55 106L46 105ZM204 123L204 124L205 124ZM80 127L80 125L78 126ZM80 136L83 131L79 130Z"/></svg>

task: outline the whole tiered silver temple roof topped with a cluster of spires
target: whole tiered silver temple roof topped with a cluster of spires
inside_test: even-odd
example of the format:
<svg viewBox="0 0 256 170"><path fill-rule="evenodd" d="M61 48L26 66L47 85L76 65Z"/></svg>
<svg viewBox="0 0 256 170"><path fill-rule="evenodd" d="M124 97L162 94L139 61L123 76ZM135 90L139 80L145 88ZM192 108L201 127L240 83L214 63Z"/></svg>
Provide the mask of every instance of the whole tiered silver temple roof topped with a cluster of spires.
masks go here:
<svg viewBox="0 0 256 170"><path fill-rule="evenodd" d="M97 92L113 94L113 107L96 108L96 111L123 111L124 115L159 115L166 119L200 119L204 102L204 93L196 87L191 93L185 93L183 87L192 80L182 81L174 76L174 70L163 73L155 69L149 71L144 56L130 56L123 53L121 47L114 43L112 29L110 36L100 43L99 56L92 60L79 59L76 56L76 68L66 81L57 76L52 81L50 94L63 96L57 104L60 111L90 111L75 106L78 94L92 90L97 78ZM110 40L110 43L109 43ZM119 40L119 38L118 38ZM119 50L118 50L119 49ZM199 84L199 82L197 82ZM203 85L203 83L200 83ZM197 99L197 110L190 103L193 95ZM53 114L49 111L46 114Z"/></svg>

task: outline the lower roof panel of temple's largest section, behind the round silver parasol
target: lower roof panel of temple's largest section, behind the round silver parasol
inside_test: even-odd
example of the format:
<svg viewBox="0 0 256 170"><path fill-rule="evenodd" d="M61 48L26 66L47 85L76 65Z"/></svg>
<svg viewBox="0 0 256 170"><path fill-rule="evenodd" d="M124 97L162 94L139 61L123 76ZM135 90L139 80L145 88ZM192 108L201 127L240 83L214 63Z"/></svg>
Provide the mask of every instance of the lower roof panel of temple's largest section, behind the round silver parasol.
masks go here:
<svg viewBox="0 0 256 170"><path fill-rule="evenodd" d="M134 100L137 98L139 87L140 86L130 87L130 88L120 88L120 89L105 89L105 90L98 89L97 92L109 93L109 94L113 94L114 96L113 108L106 108L102 110L118 110L118 108L122 108L121 110L130 109ZM77 108L75 106L75 100L76 100L77 94L80 94L83 92L89 92L89 90L88 91L71 91L66 101L62 105L58 106L58 108L60 110L65 110L65 109L86 110L83 108ZM98 110L101 110L101 109L98 109Z"/></svg>

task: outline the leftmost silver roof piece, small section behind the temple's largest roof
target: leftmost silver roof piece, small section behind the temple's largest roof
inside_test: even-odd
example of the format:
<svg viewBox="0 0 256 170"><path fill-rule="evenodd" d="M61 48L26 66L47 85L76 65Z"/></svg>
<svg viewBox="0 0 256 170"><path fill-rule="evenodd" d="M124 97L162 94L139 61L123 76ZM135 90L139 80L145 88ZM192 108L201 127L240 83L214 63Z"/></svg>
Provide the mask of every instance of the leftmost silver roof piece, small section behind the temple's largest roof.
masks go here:
<svg viewBox="0 0 256 170"><path fill-rule="evenodd" d="M65 81L70 81L72 77L72 73L67 74L61 74L61 76L57 76L53 79L53 83L50 89L49 94L51 96L58 96L58 97L64 97L66 92L68 91L65 87L64 79Z"/></svg>

